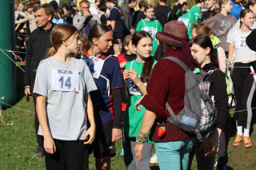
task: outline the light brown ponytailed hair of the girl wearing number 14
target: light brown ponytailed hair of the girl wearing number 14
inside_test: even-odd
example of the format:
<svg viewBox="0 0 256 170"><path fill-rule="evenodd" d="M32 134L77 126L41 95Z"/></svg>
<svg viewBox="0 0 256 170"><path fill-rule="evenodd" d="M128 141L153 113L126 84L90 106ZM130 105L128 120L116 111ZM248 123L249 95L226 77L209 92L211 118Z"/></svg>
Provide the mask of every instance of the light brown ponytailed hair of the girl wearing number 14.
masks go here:
<svg viewBox="0 0 256 170"><path fill-rule="evenodd" d="M54 29L50 34L50 42L53 46L47 50L45 59L57 53L57 50L62 45L62 43L77 32L78 30L74 26L66 24L58 24L54 26Z"/></svg>

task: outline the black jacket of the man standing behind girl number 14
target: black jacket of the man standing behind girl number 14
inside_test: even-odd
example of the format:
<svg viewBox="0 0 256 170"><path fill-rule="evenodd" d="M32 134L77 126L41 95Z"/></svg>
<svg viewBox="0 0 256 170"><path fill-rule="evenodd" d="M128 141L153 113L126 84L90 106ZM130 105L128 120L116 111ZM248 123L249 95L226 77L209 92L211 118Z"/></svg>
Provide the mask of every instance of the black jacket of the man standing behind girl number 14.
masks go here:
<svg viewBox="0 0 256 170"><path fill-rule="evenodd" d="M37 28L30 34L26 48L25 85L30 85L31 77L35 77L39 62L45 57L47 49L52 46L50 34L53 27L54 25L50 30Z"/></svg>

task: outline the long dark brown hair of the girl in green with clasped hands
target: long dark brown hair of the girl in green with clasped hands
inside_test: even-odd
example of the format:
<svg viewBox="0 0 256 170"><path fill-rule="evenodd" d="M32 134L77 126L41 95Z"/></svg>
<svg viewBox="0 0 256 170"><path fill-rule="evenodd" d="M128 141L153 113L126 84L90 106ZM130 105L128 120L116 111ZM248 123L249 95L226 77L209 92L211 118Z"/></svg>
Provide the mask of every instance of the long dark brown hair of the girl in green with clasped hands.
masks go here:
<svg viewBox="0 0 256 170"><path fill-rule="evenodd" d="M151 38L151 36L146 31L136 31L133 35L133 38L131 39L131 42L133 45L137 46L138 42L142 38ZM152 40L152 38L151 38L151 40ZM154 57L151 57L151 56L147 57L144 65L143 65L142 75L141 75L141 81L143 83L146 83L150 80L150 75L151 75L153 64L154 64Z"/></svg>

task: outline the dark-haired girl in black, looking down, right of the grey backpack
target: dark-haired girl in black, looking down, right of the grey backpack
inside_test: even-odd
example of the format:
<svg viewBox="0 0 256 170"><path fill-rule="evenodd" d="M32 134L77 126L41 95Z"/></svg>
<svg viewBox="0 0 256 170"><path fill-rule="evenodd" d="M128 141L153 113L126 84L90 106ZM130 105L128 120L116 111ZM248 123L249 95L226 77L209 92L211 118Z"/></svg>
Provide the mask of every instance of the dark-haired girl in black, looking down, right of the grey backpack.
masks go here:
<svg viewBox="0 0 256 170"><path fill-rule="evenodd" d="M201 69L209 74L207 81L210 81L209 94L213 97L213 102L218 110L215 126L210 136L202 142L195 140L193 152L190 152L190 163L195 153L198 170L214 170L215 155L222 158L226 152L225 125L226 117L229 113L228 97L226 93L225 74L218 69L218 58L214 53L214 47L210 37L206 34L199 34L192 38L191 53L194 59L201 65ZM218 159L218 168L224 166L222 159ZM217 168L217 169L218 169ZM191 169L191 168L188 168Z"/></svg>

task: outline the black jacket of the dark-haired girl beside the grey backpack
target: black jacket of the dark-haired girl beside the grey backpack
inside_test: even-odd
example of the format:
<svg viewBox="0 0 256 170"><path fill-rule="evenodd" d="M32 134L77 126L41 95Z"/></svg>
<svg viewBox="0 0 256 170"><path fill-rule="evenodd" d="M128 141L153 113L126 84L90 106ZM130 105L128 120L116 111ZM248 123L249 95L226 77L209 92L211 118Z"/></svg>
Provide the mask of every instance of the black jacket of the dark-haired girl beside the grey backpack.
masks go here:
<svg viewBox="0 0 256 170"><path fill-rule="evenodd" d="M224 130L229 113L225 74L222 73L213 62L206 64L202 69L206 71L206 73L210 70L217 69L213 73L210 73L207 80L210 81L210 95L214 96L214 104L218 110L217 128Z"/></svg>

